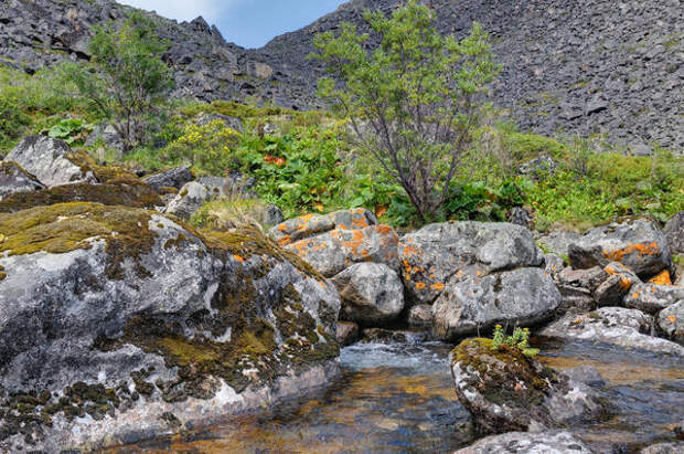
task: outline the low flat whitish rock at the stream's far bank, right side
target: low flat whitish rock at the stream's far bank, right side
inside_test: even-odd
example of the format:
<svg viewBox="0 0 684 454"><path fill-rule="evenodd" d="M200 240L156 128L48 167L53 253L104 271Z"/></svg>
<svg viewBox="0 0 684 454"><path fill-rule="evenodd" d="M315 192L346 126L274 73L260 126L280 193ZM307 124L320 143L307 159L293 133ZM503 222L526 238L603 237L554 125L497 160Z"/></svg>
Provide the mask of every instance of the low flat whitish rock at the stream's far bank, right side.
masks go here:
<svg viewBox="0 0 684 454"><path fill-rule="evenodd" d="M684 356L684 347L649 336L652 319L637 309L602 307L588 314L566 314L542 329L539 335L560 339L578 339L611 344L655 353Z"/></svg>

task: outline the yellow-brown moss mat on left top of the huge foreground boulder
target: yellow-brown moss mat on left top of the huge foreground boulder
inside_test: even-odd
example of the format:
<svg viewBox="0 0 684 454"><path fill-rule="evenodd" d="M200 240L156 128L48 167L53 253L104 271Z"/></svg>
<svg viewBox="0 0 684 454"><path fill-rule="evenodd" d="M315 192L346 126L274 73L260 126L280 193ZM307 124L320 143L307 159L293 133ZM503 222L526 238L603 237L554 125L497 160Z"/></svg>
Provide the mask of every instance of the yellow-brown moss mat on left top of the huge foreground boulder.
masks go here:
<svg viewBox="0 0 684 454"><path fill-rule="evenodd" d="M151 252L157 233L148 229L151 212L125 207L73 202L38 207L11 214L0 214L0 232L6 240L0 253L10 255L50 252L66 253L89 249L87 241L106 241L106 272L110 278L121 278L121 264L127 258L138 262ZM116 234L113 234L116 232ZM138 267L139 273L145 273Z"/></svg>

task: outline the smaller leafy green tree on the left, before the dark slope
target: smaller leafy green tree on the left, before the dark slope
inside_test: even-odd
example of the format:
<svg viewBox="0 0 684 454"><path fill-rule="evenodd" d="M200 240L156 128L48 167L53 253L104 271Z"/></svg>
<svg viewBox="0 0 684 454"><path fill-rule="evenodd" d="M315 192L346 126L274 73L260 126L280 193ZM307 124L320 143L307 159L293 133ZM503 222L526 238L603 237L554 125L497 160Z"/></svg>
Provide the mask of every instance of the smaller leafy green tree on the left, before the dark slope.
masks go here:
<svg viewBox="0 0 684 454"><path fill-rule="evenodd" d="M118 29L109 23L93 31L90 67L67 66L68 77L101 119L114 122L128 151L145 140L151 117L173 86L161 60L168 44L157 35L154 22L139 12Z"/></svg>

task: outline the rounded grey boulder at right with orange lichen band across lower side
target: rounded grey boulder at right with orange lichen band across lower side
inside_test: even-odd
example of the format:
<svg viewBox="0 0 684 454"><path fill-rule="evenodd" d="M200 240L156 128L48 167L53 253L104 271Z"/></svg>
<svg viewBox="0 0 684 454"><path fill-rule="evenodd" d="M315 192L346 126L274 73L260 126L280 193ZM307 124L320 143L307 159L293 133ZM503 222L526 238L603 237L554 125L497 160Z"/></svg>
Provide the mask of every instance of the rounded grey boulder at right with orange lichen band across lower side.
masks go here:
<svg viewBox="0 0 684 454"><path fill-rule="evenodd" d="M592 229L570 243L568 256L578 270L620 262L642 279L672 266L665 235L645 219Z"/></svg>

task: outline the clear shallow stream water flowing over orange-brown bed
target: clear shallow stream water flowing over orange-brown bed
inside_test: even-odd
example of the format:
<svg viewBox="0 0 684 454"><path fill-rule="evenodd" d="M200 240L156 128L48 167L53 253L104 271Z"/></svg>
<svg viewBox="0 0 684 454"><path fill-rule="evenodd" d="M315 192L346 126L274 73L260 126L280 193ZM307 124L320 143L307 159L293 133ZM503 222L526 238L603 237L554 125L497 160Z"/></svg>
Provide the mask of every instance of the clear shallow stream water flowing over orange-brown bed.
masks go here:
<svg viewBox="0 0 684 454"><path fill-rule="evenodd" d="M629 453L673 440L684 419L684 365L676 359L588 344L546 342L541 358L559 370L588 365L614 405L607 421L573 427L598 452ZM362 342L342 349L341 379L324 392L268 414L154 440L117 452L442 453L472 442L469 413L457 401L450 346Z"/></svg>

